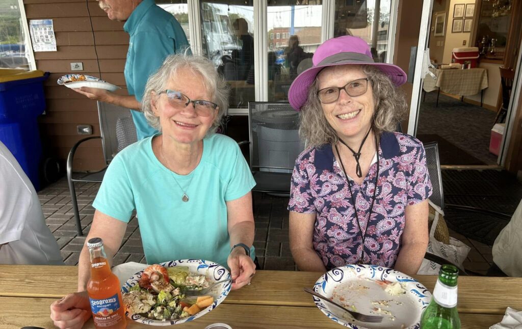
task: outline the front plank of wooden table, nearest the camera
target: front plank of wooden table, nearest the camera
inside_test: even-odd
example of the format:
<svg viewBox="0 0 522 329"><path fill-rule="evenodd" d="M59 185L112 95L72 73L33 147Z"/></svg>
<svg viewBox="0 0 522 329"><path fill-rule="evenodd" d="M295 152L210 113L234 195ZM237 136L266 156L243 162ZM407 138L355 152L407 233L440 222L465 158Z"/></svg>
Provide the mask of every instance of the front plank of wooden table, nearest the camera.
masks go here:
<svg viewBox="0 0 522 329"><path fill-rule="evenodd" d="M22 326L40 326L53 328L50 316L51 298L24 298L0 297L0 327L5 329L19 329ZM30 310L30 312L20 310ZM463 329L483 329L500 322L500 314L460 314ZM338 324L329 320L319 309L291 306L255 306L238 304L221 304L212 312L195 321L180 324L176 327L204 328L216 323L228 323L234 329L266 329L266 328L340 328ZM129 322L127 328L149 328L150 326L136 322ZM400 327L400 326L399 326ZM94 328L92 320L85 328Z"/></svg>

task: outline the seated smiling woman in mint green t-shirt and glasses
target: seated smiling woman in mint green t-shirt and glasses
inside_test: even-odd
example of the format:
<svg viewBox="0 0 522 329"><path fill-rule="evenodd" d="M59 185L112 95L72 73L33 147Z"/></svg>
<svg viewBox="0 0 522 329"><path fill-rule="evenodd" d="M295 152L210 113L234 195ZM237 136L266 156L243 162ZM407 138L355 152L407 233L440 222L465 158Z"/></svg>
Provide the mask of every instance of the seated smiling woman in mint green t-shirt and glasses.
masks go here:
<svg viewBox="0 0 522 329"><path fill-rule="evenodd" d="M135 210L147 263L206 259L250 283L254 217L250 169L231 138L216 134L227 87L203 57L172 55L147 81L142 111L160 133L116 155L94 200L87 239L101 237L108 258L120 248ZM89 254L79 260L79 287Z"/></svg>

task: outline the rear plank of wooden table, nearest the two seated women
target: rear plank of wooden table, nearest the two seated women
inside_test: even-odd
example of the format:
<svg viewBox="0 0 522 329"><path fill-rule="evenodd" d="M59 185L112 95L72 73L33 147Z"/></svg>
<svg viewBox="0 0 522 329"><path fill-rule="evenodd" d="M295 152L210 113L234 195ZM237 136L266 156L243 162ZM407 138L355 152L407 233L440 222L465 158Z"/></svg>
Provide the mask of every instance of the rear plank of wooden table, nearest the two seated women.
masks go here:
<svg viewBox="0 0 522 329"><path fill-rule="evenodd" d="M0 265L0 296L61 298L77 288L76 266ZM257 271L252 285L231 291L224 303L314 307L303 287L311 287L321 273ZM414 276L433 291L436 276ZM504 314L507 306L522 309L516 287L522 278L460 276L458 309L466 313Z"/></svg>

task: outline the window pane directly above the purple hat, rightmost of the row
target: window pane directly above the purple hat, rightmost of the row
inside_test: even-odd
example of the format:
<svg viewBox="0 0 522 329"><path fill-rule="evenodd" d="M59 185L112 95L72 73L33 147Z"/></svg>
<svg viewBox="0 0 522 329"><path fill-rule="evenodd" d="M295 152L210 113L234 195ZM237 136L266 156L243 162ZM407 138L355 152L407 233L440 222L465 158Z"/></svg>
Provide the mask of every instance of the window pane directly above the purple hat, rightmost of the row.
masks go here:
<svg viewBox="0 0 522 329"><path fill-rule="evenodd" d="M334 36L358 36L368 43L375 62L385 62L391 0L335 2Z"/></svg>

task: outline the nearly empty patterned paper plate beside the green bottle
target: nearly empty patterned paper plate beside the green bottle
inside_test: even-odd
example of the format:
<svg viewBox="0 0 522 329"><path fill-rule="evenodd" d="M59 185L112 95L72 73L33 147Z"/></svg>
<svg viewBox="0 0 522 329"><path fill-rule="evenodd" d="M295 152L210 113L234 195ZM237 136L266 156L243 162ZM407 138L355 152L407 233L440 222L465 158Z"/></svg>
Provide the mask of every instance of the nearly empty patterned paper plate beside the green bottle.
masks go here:
<svg viewBox="0 0 522 329"><path fill-rule="evenodd" d="M385 291L388 282L399 282L406 293L397 296L388 294ZM383 322L380 323L360 322L333 304L313 297L316 306L328 318L352 329L419 329L422 311L431 300L430 291L416 279L375 265L337 267L319 277L314 290L347 309L383 316Z"/></svg>

